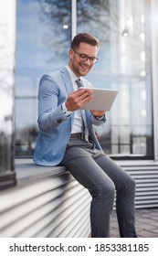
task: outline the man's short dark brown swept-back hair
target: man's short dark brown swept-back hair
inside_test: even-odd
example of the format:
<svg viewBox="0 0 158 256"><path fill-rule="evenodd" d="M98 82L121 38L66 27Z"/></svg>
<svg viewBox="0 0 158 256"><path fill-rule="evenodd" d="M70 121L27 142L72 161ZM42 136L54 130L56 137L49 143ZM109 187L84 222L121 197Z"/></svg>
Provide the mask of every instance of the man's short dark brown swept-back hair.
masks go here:
<svg viewBox="0 0 158 256"><path fill-rule="evenodd" d="M88 43L91 46L97 46L100 48L100 40L97 37L94 37L90 33L79 33L77 36L75 36L71 42L71 48L72 49L77 49L79 48L79 44L83 43Z"/></svg>

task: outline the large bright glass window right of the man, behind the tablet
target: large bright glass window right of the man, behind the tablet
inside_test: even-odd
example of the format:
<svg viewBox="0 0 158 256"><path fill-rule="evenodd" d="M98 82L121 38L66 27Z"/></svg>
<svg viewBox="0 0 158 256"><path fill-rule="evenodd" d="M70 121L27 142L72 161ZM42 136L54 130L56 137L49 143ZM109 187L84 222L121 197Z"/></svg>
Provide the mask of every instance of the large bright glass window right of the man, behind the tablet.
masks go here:
<svg viewBox="0 0 158 256"><path fill-rule="evenodd" d="M112 156L153 157L150 1L77 1L78 33L99 37L94 87L118 90L107 123L97 128ZM123 29L130 36L122 37Z"/></svg>

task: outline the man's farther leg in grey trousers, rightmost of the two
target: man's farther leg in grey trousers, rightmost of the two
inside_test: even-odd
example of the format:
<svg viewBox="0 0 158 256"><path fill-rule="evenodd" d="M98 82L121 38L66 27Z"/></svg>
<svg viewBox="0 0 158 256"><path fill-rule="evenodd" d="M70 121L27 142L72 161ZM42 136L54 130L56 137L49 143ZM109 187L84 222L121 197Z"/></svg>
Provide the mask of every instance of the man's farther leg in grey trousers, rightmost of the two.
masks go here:
<svg viewBox="0 0 158 256"><path fill-rule="evenodd" d="M134 226L135 182L132 176L128 175L119 165L116 165L107 155L98 152L94 155L94 159L115 184L116 211L121 237L137 237Z"/></svg>

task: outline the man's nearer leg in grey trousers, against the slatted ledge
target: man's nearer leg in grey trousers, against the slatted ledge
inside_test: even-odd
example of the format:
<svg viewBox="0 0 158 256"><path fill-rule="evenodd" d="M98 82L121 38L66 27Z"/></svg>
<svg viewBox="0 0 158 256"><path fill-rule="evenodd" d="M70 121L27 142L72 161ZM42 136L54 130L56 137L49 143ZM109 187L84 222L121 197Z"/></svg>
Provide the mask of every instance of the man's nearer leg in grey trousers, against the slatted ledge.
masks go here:
<svg viewBox="0 0 158 256"><path fill-rule="evenodd" d="M110 216L113 208L115 187L91 155L90 146L79 140L70 140L67 152L60 165L65 165L68 171L79 183L88 188L92 197L90 206L91 237L110 237Z"/></svg>

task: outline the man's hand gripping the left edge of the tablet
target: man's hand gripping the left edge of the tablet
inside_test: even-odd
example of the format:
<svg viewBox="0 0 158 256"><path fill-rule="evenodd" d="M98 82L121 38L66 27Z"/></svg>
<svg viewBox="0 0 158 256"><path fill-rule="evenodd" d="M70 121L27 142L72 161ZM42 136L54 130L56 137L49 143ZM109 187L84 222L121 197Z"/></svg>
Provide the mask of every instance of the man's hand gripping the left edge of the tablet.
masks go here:
<svg viewBox="0 0 158 256"><path fill-rule="evenodd" d="M92 97L92 90L88 88L73 91L68 95L65 106L70 112L77 111L88 103Z"/></svg>

